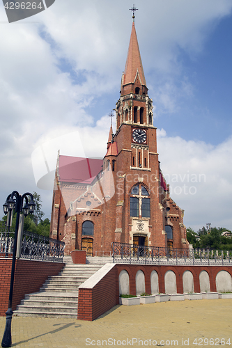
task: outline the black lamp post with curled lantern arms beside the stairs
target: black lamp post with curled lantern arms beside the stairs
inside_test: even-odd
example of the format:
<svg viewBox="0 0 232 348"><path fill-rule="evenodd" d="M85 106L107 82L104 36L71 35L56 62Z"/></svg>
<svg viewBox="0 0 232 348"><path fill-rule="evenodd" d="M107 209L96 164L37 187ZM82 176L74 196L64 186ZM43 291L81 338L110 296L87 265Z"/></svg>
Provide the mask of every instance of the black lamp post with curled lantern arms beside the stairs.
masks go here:
<svg viewBox="0 0 232 348"><path fill-rule="evenodd" d="M28 196L30 197L30 201L28 200ZM23 203L25 200L25 205L23 207ZM10 276L10 293L9 293L9 301L8 301L8 310L6 312L6 326L5 331L3 333L3 338L1 341L2 347L11 347L11 321L13 316L12 310L12 299L13 299L13 285L15 278L15 260L16 260L16 249L17 249L17 234L20 225L20 214L23 212L24 216L28 215L29 212L33 213L35 209L36 203L33 201L33 195L29 192L24 193L22 196L17 191L13 191L8 198L6 199L6 203L3 204L4 214L9 214L9 219L7 221L7 225L10 226L10 215L15 212L16 216L16 225L15 225L15 241L14 241L14 249L13 249L13 260L11 267L11 276Z"/></svg>

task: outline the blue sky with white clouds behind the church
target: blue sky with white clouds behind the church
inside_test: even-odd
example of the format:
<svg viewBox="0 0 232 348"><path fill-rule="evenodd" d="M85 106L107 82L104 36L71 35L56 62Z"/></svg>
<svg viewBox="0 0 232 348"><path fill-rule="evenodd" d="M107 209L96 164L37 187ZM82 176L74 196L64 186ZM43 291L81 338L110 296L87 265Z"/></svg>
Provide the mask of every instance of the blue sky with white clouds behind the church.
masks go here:
<svg viewBox="0 0 232 348"><path fill-rule="evenodd" d="M36 191L50 219L58 150L105 156L132 6L128 0L56 0L9 24L0 3L2 204L13 190ZM232 2L144 0L135 6L171 197L185 210L186 227L211 223L231 230ZM50 181L38 187L47 172Z"/></svg>

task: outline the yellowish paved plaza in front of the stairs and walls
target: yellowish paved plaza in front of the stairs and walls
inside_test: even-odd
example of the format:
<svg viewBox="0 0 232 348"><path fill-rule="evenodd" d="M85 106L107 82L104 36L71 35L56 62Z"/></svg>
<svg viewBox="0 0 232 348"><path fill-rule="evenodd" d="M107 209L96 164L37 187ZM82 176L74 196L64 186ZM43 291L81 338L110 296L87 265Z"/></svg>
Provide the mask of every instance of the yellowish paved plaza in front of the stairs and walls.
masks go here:
<svg viewBox="0 0 232 348"><path fill-rule="evenodd" d="M230 299L185 300L116 306L93 322L13 317L12 347L230 347L231 309Z"/></svg>

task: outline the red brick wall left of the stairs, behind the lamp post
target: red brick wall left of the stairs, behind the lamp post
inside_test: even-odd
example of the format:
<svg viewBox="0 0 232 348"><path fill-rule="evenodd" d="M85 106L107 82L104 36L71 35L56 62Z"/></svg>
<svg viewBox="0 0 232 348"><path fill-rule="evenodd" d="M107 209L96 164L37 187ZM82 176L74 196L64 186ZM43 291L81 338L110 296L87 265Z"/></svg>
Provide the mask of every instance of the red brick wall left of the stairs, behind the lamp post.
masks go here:
<svg viewBox="0 0 232 348"><path fill-rule="evenodd" d="M8 309L12 259L0 259L0 316ZM16 260L12 308L15 310L25 294L38 292L49 276L59 274L64 264L36 260Z"/></svg>

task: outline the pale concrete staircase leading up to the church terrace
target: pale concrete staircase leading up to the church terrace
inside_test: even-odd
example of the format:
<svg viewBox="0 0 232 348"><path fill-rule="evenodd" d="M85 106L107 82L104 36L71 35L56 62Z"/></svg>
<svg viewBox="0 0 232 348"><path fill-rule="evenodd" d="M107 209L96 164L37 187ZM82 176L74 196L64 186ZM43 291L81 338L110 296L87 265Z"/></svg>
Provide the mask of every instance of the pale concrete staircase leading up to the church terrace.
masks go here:
<svg viewBox="0 0 232 348"><path fill-rule="evenodd" d="M14 315L21 317L62 317L77 319L78 288L112 258L86 258L86 264L73 264L65 256L59 276L50 276L40 292L26 294Z"/></svg>

